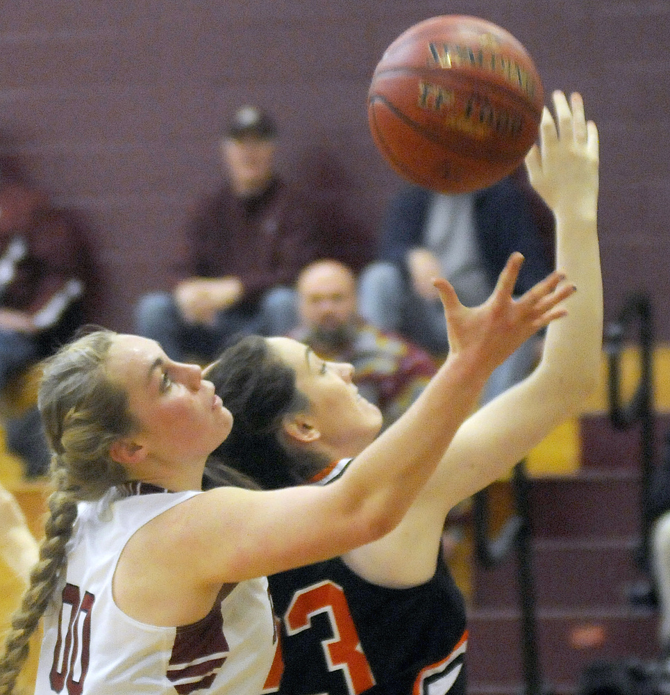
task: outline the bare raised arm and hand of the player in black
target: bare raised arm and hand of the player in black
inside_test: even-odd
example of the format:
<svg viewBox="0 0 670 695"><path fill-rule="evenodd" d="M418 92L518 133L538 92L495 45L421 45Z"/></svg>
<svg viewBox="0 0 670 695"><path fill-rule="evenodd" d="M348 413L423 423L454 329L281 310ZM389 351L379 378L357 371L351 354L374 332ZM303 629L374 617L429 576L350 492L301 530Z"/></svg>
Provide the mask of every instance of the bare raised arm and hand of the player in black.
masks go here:
<svg viewBox="0 0 670 695"><path fill-rule="evenodd" d="M545 110L541 145L528 154L530 181L556 221L556 263L576 287L568 315L549 327L542 359L530 377L470 416L401 524L387 537L347 556L380 583L408 585L435 571L444 518L457 502L510 471L597 386L603 293L596 232L598 134L573 95L554 96ZM558 129L557 129L558 126Z"/></svg>

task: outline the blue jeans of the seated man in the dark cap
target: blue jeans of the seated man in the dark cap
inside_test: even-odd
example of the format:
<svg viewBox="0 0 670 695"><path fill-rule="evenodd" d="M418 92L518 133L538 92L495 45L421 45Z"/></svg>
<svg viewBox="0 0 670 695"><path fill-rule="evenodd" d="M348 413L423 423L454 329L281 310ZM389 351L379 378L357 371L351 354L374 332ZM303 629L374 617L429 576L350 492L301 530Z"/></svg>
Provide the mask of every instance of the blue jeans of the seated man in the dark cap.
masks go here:
<svg viewBox="0 0 670 695"><path fill-rule="evenodd" d="M296 293L285 287L267 291L253 311L220 311L212 326L187 323L169 292L144 295L135 306L135 332L158 341L178 361L216 359L239 336L283 336L296 324Z"/></svg>

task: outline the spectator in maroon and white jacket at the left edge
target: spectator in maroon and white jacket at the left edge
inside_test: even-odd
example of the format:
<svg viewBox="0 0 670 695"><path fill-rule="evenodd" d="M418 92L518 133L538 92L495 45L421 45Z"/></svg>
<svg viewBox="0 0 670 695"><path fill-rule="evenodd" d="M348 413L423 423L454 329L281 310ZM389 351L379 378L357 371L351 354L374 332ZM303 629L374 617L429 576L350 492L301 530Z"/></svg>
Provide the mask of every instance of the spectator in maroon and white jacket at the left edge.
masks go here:
<svg viewBox="0 0 670 695"><path fill-rule="evenodd" d="M82 220L53 204L15 158L0 157L0 391L92 320L97 285ZM26 474L44 473L48 455L35 409L5 426Z"/></svg>

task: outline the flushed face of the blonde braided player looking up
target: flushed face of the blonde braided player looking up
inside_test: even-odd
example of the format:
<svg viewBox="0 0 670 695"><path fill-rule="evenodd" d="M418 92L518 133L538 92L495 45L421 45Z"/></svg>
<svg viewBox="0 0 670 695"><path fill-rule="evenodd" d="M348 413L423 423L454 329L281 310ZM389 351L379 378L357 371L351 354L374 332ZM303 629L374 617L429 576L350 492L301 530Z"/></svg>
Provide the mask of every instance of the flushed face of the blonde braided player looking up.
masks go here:
<svg viewBox="0 0 670 695"><path fill-rule="evenodd" d="M161 461L206 457L226 439L231 413L195 364L174 362L155 341L119 335L110 347L108 373L128 393L140 423L132 439Z"/></svg>

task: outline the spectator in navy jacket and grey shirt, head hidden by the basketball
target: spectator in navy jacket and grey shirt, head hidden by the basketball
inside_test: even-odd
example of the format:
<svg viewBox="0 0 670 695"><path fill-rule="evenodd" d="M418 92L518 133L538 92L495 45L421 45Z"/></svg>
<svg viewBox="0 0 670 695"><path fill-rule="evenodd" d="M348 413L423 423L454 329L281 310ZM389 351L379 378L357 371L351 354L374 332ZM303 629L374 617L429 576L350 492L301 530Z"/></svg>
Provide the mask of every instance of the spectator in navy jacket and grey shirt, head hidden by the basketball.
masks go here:
<svg viewBox="0 0 670 695"><path fill-rule="evenodd" d="M492 292L510 254L519 251L526 261L516 289L524 293L551 272L537 220L517 177L459 195L404 186L387 211L378 261L360 277L361 315L431 354L446 354L449 343L433 278L446 277L463 304L476 306ZM483 402L526 376L539 352L539 336L522 345L493 373Z"/></svg>

